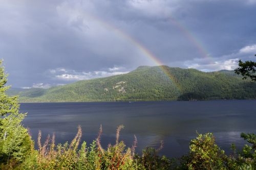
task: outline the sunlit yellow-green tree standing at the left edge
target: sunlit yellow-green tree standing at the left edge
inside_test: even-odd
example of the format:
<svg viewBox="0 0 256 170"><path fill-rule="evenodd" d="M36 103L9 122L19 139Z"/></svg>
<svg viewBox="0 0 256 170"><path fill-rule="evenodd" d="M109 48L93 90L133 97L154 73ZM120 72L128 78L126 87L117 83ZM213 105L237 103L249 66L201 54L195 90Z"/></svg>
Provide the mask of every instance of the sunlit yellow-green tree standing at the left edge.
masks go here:
<svg viewBox="0 0 256 170"><path fill-rule="evenodd" d="M33 142L21 122L26 114L19 113L17 96L9 97L5 92L9 86L0 61L0 163L22 161L31 152Z"/></svg>

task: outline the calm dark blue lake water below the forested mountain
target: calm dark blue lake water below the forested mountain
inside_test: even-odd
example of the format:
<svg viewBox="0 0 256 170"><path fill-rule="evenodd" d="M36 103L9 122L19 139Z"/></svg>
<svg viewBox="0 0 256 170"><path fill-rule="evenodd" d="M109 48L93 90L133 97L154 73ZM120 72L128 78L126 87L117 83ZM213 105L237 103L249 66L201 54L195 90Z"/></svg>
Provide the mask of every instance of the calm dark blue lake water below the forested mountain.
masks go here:
<svg viewBox="0 0 256 170"><path fill-rule="evenodd" d="M199 133L213 132L227 153L230 143L245 144L241 132L256 133L256 100L196 102L104 102L104 103L23 103L24 119L34 140L38 130L45 138L55 133L56 141L71 141L77 126L82 140L91 142L103 127L102 144L114 143L116 127L124 125L120 139L131 147L134 135L137 152L146 146L158 148L164 141L166 156L181 156L188 151L190 139Z"/></svg>

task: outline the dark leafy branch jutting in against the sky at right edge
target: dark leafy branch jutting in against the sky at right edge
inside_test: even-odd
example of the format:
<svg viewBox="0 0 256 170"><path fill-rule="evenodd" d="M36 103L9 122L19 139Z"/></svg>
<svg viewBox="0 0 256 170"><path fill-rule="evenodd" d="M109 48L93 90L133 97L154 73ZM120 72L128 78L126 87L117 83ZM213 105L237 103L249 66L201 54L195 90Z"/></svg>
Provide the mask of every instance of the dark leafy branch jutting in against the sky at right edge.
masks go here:
<svg viewBox="0 0 256 170"><path fill-rule="evenodd" d="M256 54L255 54L256 56ZM239 67L234 70L236 74L242 75L243 79L250 78L252 81L256 81L256 62L253 61L241 61L239 60Z"/></svg>

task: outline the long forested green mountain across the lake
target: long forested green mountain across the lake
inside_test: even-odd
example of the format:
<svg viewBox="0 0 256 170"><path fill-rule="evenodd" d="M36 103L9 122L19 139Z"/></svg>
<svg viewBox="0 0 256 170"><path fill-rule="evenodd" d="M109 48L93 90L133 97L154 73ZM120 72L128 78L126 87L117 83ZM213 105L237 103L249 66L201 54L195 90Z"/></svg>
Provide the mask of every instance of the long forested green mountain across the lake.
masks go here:
<svg viewBox="0 0 256 170"><path fill-rule="evenodd" d="M20 102L256 99L256 83L233 71L140 66L127 74L8 93Z"/></svg>

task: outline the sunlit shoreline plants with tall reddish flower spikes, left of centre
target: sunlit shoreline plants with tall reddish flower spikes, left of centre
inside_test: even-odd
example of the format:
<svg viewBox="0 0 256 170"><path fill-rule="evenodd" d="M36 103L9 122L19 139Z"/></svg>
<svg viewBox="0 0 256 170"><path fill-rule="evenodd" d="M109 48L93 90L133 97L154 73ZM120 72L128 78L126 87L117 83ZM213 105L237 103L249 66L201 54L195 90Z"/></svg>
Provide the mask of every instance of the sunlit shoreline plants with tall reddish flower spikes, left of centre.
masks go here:
<svg viewBox="0 0 256 170"><path fill-rule="evenodd" d="M104 150L100 144L99 135L87 147L86 142L80 143L82 131L78 126L75 138L69 144L54 143L55 136L48 135L44 144L41 144L41 132L38 133L38 151L31 153L28 158L18 165L19 169L144 169L134 161L134 147L126 148L123 141L119 141L119 132L123 126L117 128L116 143L109 144ZM51 141L51 142L50 142Z"/></svg>

